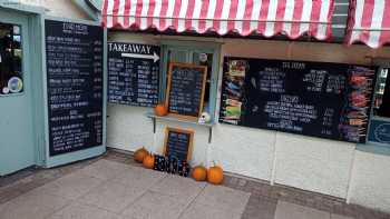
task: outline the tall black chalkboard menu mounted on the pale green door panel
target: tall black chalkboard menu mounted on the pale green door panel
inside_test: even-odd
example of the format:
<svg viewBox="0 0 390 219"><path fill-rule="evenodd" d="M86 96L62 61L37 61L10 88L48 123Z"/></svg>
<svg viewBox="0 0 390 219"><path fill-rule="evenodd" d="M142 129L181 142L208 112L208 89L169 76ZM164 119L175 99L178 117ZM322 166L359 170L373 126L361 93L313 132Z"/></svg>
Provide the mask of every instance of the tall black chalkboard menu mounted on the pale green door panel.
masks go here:
<svg viewBox="0 0 390 219"><path fill-rule="evenodd" d="M49 152L103 145L104 31L45 20Z"/></svg>

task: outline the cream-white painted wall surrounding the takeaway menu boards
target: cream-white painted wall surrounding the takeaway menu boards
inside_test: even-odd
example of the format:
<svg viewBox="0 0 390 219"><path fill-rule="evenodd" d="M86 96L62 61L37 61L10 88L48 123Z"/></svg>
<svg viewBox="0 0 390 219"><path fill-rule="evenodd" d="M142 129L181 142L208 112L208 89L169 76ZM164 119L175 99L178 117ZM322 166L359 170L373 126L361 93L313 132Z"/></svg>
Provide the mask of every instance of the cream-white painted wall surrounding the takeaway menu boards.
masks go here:
<svg viewBox="0 0 390 219"><path fill-rule="evenodd" d="M109 37L109 41L138 43L159 43L162 39L214 40L124 32ZM364 46L347 48L330 43L246 39L215 41L223 43L222 56L361 64L369 64L369 57L390 58L389 48L370 50ZM222 70L220 79L221 74ZM230 172L341 198L347 198L351 187L351 202L390 211L390 175L382 173L383 167L390 167L390 157L355 152L352 143L228 125L213 128L212 143L208 143L207 128L194 125L159 121L156 135L153 135L152 120L144 116L147 111L152 109L110 104L108 147L134 151L144 146L162 152L167 126L193 129L193 163L216 161Z"/></svg>

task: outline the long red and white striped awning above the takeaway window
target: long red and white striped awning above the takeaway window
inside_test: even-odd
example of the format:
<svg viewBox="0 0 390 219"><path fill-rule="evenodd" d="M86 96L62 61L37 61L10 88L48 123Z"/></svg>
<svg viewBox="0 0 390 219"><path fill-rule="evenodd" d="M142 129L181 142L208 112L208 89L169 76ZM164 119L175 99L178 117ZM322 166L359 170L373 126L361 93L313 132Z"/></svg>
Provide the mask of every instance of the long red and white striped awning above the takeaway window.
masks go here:
<svg viewBox="0 0 390 219"><path fill-rule="evenodd" d="M333 0L105 0L103 24L241 36L282 33L291 39L308 33L325 40L331 36L332 13Z"/></svg>

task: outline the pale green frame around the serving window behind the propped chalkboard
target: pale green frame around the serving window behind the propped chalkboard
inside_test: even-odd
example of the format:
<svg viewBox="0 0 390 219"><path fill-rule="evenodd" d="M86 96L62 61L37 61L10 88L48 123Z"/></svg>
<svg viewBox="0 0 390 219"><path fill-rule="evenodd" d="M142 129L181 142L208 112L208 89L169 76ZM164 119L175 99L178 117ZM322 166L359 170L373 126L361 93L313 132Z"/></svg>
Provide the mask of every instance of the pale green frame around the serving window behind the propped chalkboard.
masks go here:
<svg viewBox="0 0 390 219"><path fill-rule="evenodd" d="M220 76L220 60L221 60L221 44L218 42L201 42L201 41L181 41L181 40L163 40L160 42L160 83L159 83L159 102L163 102L166 97L167 87L167 71L168 71L168 51L182 50L186 52L202 52L212 53L212 74L209 77L209 94L208 94L208 113L211 116L211 123L216 121L216 106L218 93L218 76Z"/></svg>

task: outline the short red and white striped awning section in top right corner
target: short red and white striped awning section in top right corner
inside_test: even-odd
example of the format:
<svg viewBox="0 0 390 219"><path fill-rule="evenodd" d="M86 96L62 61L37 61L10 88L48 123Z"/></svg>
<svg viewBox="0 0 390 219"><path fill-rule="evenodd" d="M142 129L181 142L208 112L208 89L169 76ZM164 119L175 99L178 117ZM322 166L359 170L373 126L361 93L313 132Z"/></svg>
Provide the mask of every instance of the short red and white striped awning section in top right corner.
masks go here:
<svg viewBox="0 0 390 219"><path fill-rule="evenodd" d="M390 0L352 0L348 42L379 48L390 42Z"/></svg>

